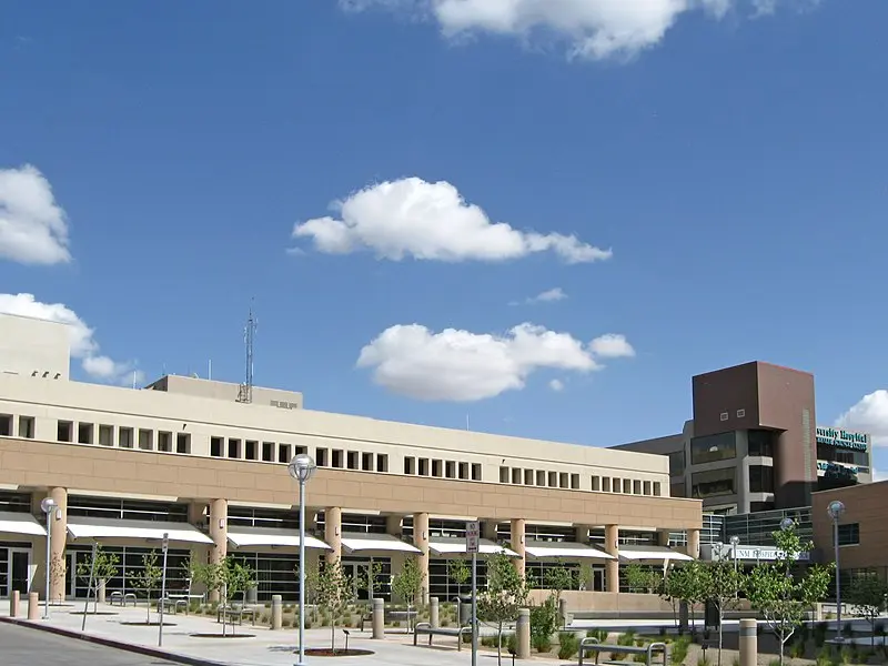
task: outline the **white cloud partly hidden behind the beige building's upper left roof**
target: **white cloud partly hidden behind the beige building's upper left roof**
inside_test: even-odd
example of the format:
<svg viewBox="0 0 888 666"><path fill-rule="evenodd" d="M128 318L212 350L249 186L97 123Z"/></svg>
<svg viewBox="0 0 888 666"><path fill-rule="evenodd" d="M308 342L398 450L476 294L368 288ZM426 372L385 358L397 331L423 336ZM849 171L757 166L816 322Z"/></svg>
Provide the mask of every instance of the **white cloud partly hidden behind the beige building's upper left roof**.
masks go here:
<svg viewBox="0 0 888 666"><path fill-rule="evenodd" d="M118 362L99 353L94 331L77 313L61 303L41 303L33 294L0 294L0 313L18 314L68 324L71 355L80 359L83 371L92 379L113 384L141 384L144 374L132 361Z"/></svg>

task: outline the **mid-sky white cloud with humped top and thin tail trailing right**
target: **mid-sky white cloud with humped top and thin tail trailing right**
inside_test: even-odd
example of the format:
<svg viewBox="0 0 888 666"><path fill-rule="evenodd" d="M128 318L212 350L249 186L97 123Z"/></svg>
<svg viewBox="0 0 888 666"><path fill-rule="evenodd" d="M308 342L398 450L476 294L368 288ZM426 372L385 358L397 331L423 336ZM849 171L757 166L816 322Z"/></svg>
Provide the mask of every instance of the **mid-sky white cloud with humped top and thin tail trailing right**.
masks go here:
<svg viewBox="0 0 888 666"><path fill-rule="evenodd" d="M320 252L350 254L369 250L381 259L508 261L537 252L554 252L567 263L609 259L574 235L518 231L492 222L477 205L466 203L451 183L418 178L386 181L334 203L340 218L297 223L294 239L311 239Z"/></svg>

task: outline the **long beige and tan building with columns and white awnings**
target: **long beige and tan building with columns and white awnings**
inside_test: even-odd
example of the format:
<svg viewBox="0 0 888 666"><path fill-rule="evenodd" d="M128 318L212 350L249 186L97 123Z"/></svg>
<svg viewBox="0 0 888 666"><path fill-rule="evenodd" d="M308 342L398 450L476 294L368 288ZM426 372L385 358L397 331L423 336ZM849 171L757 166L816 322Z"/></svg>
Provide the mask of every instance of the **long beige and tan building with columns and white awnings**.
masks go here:
<svg viewBox="0 0 888 666"><path fill-rule="evenodd" d="M0 315L0 596L42 591L51 496L53 598L85 594L75 572L95 542L119 554L109 588L125 591L168 533L173 589L188 587L192 555L236 555L258 572L260 599L294 599L286 463L299 453L319 466L306 488L313 563L341 558L355 578L375 563L386 597L410 556L426 595L455 596L448 562L465 556L474 519L482 551L507 547L538 586L549 567L572 568L588 607L634 596L619 594L620 564L698 556L700 502L669 497L665 456L314 412L287 391L254 387L244 403L238 384L196 377L73 382L59 330Z"/></svg>

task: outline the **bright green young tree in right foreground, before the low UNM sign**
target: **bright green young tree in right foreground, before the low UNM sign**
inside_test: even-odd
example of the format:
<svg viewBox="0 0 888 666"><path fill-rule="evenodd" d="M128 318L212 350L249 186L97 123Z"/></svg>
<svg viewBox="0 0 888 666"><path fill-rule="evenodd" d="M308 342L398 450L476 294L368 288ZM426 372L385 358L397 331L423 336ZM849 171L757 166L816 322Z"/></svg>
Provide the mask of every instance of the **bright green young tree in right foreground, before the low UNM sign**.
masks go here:
<svg viewBox="0 0 888 666"><path fill-rule="evenodd" d="M746 578L746 596L753 608L765 616L780 642L783 666L787 640L805 620L808 608L826 596L835 565L811 565L803 574L794 575L798 554L809 551L813 544L803 544L794 526L778 529L774 539L778 548L777 559L756 565Z"/></svg>

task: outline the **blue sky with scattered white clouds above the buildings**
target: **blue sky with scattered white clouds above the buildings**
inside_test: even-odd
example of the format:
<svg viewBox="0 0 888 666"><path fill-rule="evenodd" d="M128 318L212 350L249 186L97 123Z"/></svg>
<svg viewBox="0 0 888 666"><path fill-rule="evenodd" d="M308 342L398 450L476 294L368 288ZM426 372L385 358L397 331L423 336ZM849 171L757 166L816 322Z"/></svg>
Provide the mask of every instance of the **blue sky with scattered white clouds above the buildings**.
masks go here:
<svg viewBox="0 0 888 666"><path fill-rule="evenodd" d="M608 446L813 372L888 445L884 0L0 7L0 311L72 373ZM877 448L877 467L888 451Z"/></svg>

